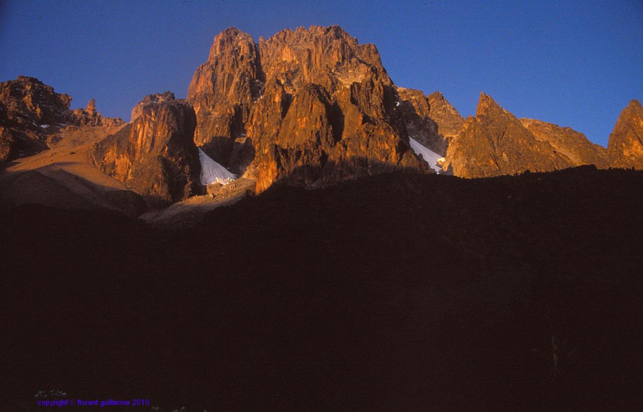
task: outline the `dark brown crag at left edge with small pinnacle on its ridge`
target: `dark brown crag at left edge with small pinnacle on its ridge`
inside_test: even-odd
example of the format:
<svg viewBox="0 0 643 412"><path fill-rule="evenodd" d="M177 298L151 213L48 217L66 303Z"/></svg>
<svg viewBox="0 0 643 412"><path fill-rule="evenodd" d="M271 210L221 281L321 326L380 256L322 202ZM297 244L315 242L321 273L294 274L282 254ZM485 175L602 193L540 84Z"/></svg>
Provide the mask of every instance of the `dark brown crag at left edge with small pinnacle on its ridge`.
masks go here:
<svg viewBox="0 0 643 412"><path fill-rule="evenodd" d="M48 147L51 132L67 123L118 125L122 120L103 118L93 99L87 109L69 110L71 96L34 77L18 76L0 84L0 161L28 156Z"/></svg>

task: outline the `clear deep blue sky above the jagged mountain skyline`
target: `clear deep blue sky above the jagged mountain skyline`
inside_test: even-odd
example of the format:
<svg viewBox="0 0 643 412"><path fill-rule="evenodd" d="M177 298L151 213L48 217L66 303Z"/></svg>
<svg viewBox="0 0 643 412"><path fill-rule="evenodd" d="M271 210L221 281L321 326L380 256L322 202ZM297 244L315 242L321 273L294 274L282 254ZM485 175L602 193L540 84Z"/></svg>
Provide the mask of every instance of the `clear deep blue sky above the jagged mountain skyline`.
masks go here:
<svg viewBox="0 0 643 412"><path fill-rule="evenodd" d="M186 96L212 38L340 24L376 44L395 84L441 91L463 116L480 91L518 117L606 145L643 101L643 1L7 1L0 81L35 76L129 120L150 93Z"/></svg>

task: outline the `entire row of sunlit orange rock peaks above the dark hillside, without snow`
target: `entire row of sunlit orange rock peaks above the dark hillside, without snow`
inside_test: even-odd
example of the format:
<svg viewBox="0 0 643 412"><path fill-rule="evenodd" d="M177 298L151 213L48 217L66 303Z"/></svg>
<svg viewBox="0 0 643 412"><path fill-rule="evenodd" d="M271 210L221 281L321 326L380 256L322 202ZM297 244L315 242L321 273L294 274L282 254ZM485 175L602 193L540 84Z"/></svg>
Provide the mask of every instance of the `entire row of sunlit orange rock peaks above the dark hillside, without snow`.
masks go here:
<svg viewBox="0 0 643 412"><path fill-rule="evenodd" d="M32 77L0 84L6 171L42 173L42 165L21 163L55 150L70 130L91 130L100 140L87 142L84 166L151 208L206 193L197 148L254 182L255 193L277 182L316 187L391 170L475 178L580 165L643 168L637 100L621 112L608 148L568 127L518 119L485 93L475 116L463 119L441 93L395 85L376 46L339 26L282 30L258 43L224 30L195 70L186 101L170 92L147 96L129 123L102 116L94 100L73 111L70 102Z"/></svg>

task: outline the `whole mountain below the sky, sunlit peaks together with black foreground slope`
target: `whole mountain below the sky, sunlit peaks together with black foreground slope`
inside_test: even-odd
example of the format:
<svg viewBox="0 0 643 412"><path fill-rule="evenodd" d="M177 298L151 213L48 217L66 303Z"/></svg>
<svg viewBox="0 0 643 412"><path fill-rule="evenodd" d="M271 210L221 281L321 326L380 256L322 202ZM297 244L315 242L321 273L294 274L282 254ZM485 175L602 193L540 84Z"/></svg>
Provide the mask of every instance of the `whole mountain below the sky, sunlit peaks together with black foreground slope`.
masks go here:
<svg viewBox="0 0 643 412"><path fill-rule="evenodd" d="M338 26L224 30L186 92L0 84L0 409L640 409L640 102L607 148L463 118Z"/></svg>

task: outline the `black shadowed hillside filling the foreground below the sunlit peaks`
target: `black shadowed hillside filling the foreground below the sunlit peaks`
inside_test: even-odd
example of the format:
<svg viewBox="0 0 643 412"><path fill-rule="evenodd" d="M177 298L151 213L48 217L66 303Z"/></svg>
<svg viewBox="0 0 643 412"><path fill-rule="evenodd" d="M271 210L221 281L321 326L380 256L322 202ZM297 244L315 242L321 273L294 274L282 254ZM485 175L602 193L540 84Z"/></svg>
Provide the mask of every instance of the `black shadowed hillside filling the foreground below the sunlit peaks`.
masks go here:
<svg viewBox="0 0 643 412"><path fill-rule="evenodd" d="M586 166L273 187L179 233L22 206L0 229L4 392L23 409L51 388L167 411L633 408L642 201L643 172Z"/></svg>

